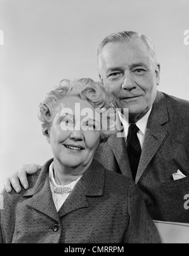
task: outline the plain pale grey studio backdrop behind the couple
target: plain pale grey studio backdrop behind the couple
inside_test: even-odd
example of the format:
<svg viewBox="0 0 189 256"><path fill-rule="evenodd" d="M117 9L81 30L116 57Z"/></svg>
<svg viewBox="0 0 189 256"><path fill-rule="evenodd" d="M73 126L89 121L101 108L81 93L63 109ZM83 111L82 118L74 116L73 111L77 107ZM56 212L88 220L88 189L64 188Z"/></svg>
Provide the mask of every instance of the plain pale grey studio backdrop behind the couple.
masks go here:
<svg viewBox="0 0 189 256"><path fill-rule="evenodd" d="M188 0L0 0L0 186L21 164L52 157L38 104L63 78L98 80L96 50L112 32L151 37L159 90L189 100L188 9Z"/></svg>

